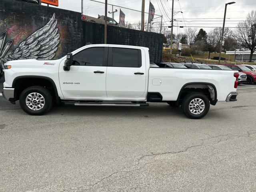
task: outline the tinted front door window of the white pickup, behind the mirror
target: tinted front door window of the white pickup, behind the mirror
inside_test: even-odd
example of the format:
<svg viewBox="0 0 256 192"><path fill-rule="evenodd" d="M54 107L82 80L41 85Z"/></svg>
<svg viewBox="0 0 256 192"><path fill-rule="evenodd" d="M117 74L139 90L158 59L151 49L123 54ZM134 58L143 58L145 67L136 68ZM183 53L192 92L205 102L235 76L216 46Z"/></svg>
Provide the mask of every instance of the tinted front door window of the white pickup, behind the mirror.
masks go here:
<svg viewBox="0 0 256 192"><path fill-rule="evenodd" d="M82 50L73 56L76 66L103 66L104 47L93 47Z"/></svg>

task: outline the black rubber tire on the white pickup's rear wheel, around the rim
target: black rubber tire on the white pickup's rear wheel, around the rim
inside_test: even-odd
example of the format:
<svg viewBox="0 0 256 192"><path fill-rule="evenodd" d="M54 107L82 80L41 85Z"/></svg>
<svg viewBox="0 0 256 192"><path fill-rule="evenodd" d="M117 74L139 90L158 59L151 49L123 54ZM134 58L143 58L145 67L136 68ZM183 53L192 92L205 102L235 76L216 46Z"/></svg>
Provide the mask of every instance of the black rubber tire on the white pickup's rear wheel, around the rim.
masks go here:
<svg viewBox="0 0 256 192"><path fill-rule="evenodd" d="M194 99L201 99L204 101L204 110L200 113L200 114L193 114L191 111L190 111L190 108L189 108L189 105L190 105L190 102L192 102L192 100ZM200 107L200 106L199 106ZM206 114L208 113L209 109L210 109L210 101L209 99L202 93L199 93L199 92L194 92L194 93L190 93L190 94L187 94L184 98L183 98L183 101L182 101L182 105L181 105L181 109L182 109L182 112L188 116L189 118L191 119L200 119L200 118L203 118L204 116L206 116Z"/></svg>

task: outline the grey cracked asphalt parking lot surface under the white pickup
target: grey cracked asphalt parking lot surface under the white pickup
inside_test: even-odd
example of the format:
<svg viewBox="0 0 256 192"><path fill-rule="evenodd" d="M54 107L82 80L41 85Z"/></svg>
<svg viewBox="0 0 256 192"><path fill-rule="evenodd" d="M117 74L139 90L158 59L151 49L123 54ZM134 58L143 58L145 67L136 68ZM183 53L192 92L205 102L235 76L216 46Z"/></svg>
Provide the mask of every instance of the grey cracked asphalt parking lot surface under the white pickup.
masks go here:
<svg viewBox="0 0 256 192"><path fill-rule="evenodd" d="M61 106L0 96L0 191L256 191L256 85L201 120L179 107Z"/></svg>

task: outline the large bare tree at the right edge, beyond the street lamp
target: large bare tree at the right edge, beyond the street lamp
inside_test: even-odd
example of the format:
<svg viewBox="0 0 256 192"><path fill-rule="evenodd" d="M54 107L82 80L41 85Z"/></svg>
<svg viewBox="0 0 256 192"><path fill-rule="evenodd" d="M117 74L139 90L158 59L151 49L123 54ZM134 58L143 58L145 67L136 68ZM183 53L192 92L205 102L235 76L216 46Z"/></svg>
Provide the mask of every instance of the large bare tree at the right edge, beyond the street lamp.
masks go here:
<svg viewBox="0 0 256 192"><path fill-rule="evenodd" d="M252 62L252 55L256 51L256 11L252 10L237 27L237 42L251 51L249 62Z"/></svg>

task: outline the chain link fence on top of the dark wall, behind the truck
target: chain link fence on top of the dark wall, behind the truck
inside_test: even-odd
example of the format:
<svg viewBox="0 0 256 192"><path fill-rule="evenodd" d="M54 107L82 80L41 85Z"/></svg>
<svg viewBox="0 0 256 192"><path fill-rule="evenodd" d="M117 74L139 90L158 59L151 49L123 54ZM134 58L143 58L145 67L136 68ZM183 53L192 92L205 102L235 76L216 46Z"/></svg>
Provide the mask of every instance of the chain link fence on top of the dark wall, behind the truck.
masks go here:
<svg viewBox="0 0 256 192"><path fill-rule="evenodd" d="M129 2L129 4L132 2ZM108 4L108 24L120 23L120 10L125 14L124 23L126 28L141 30L141 17L142 12L140 10L135 10L132 8L127 8L128 3L121 3L120 1L116 4ZM82 15L83 19L91 22L97 22L104 24L104 15L105 15L105 2L99 0L82 0ZM140 5L141 6L141 5ZM154 19L151 23L148 23L148 15L146 12L147 8L145 7L144 13L144 31L162 32L162 16L154 15ZM99 19L97 19L99 18Z"/></svg>

